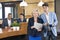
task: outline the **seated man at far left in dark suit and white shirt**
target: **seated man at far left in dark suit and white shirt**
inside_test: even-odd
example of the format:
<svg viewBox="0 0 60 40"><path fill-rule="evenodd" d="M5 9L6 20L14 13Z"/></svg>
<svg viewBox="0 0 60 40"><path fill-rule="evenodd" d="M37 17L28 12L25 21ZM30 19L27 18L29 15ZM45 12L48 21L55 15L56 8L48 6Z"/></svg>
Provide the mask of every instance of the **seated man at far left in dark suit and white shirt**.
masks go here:
<svg viewBox="0 0 60 40"><path fill-rule="evenodd" d="M9 14L8 14L8 18L5 18L5 19L3 20L2 26L3 26L4 28L6 28L6 27L11 27L11 24L12 24L12 23L13 23L12 14L9 13Z"/></svg>

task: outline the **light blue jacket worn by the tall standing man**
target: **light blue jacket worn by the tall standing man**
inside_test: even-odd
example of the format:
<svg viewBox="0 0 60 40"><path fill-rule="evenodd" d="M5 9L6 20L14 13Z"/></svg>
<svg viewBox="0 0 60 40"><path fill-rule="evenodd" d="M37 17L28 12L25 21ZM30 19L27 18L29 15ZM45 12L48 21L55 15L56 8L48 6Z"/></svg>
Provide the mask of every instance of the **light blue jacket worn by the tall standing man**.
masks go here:
<svg viewBox="0 0 60 40"><path fill-rule="evenodd" d="M44 23L47 23L47 19L46 19L45 13L43 13L42 15L40 15L40 17L43 19ZM57 36L57 30L56 30L56 26L57 26L57 23L58 23L57 16L56 16L56 13L49 12L49 24L52 25L53 23L54 23L54 27L51 27L51 31L52 31L52 33L55 36ZM47 30L44 33L44 35L47 36Z"/></svg>

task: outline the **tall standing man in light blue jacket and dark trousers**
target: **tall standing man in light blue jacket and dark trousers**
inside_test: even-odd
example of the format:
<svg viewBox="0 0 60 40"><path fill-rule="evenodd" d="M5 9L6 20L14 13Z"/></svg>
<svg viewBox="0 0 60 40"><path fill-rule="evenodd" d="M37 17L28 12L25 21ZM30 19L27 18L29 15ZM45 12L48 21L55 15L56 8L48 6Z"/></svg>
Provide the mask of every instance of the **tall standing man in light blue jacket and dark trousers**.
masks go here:
<svg viewBox="0 0 60 40"><path fill-rule="evenodd" d="M44 28L46 30L44 30L44 40L57 40L57 30L56 30L56 26L58 23L57 17L56 17L56 13L54 12L49 12L49 5L48 3L44 3L42 5L44 13L40 15L40 17L43 19L44 21Z"/></svg>

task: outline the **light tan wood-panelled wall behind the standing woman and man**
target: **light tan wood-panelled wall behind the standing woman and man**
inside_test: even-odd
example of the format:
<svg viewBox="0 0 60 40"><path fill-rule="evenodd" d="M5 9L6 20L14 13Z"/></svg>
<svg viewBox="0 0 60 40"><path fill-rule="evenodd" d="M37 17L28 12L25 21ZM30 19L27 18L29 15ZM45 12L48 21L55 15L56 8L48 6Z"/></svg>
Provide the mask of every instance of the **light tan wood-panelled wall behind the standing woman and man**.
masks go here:
<svg viewBox="0 0 60 40"><path fill-rule="evenodd" d="M40 0L25 0L28 3L28 6L25 7L25 15L31 15L32 10L37 8L40 14L43 12L43 8L37 6ZM48 2L49 4L49 11L54 11L54 0L43 0L43 2Z"/></svg>

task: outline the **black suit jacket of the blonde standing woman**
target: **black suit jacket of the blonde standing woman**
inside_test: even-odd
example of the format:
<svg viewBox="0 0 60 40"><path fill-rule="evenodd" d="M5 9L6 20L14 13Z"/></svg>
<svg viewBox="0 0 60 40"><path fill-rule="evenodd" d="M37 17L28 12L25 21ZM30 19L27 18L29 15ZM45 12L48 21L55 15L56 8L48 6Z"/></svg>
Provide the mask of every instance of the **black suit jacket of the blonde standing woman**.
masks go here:
<svg viewBox="0 0 60 40"><path fill-rule="evenodd" d="M37 22L43 24L43 20L41 18L37 18ZM32 26L34 26L34 17L30 18L28 21L28 35L40 36L40 32L36 29L31 29Z"/></svg>

